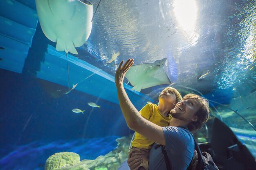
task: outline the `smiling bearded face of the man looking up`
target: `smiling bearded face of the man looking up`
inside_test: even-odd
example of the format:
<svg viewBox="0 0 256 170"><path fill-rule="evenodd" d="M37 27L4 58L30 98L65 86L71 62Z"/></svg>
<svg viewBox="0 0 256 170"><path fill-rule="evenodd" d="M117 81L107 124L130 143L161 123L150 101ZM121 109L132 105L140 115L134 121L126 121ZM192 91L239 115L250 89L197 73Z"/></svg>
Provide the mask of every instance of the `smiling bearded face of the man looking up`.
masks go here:
<svg viewBox="0 0 256 170"><path fill-rule="evenodd" d="M200 108L200 103L195 99L186 99L178 102L171 110L172 117L183 121L196 121L195 113Z"/></svg>

